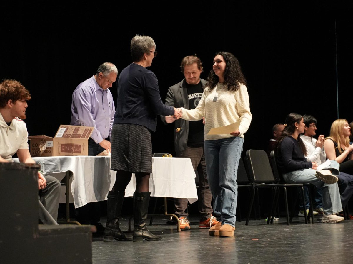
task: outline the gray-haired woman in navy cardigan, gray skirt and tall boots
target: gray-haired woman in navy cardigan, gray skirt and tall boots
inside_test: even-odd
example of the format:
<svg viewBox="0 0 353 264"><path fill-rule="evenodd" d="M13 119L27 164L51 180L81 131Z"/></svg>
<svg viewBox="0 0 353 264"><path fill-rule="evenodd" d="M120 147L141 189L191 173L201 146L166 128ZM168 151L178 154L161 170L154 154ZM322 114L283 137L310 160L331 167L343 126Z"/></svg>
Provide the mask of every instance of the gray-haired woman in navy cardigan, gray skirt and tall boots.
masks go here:
<svg viewBox="0 0 353 264"><path fill-rule="evenodd" d="M151 37L135 36L131 40L133 63L118 77L118 101L112 130L112 165L116 180L108 194L107 226L104 240L160 240L160 235L151 234L146 227L150 200L149 179L152 172L151 131L156 131L157 115L175 115L179 111L163 104L158 90L158 80L151 66L157 55L156 44ZM133 236L124 234L118 224L125 188L136 176L136 191L133 195Z"/></svg>

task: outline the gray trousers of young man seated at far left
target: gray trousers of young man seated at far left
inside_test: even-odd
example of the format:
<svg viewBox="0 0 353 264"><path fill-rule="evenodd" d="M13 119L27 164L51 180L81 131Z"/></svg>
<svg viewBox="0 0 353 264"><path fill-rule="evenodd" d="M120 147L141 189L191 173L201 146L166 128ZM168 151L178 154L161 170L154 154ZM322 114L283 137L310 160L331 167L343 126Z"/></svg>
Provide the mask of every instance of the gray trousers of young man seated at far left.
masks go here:
<svg viewBox="0 0 353 264"><path fill-rule="evenodd" d="M60 182L53 176L43 175L47 180L46 188L38 192L39 219L45 225L58 225Z"/></svg>

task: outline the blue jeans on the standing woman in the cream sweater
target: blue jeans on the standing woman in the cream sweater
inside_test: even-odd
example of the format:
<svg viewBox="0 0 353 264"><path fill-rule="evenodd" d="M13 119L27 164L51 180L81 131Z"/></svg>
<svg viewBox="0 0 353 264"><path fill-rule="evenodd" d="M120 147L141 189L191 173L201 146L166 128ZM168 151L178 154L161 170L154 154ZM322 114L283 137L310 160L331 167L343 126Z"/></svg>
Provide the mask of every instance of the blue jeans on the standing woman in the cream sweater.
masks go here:
<svg viewBox="0 0 353 264"><path fill-rule="evenodd" d="M244 139L231 137L205 140L208 182L214 200L214 213L223 224L235 225L238 184L237 172Z"/></svg>

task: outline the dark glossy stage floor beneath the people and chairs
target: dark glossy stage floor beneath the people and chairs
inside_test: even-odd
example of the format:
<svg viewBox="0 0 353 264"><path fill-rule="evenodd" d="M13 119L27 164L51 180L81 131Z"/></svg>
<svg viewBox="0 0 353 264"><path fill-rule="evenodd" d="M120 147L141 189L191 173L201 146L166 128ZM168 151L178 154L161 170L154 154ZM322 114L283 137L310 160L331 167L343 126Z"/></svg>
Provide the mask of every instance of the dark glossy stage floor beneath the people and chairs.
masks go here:
<svg viewBox="0 0 353 264"><path fill-rule="evenodd" d="M160 241L103 242L93 237L93 263L352 263L353 220L338 224L322 224L315 216L314 224L303 217L293 218L290 226L281 217L274 224L250 220L235 224L232 238L210 237L208 229L198 228L197 217L191 217L191 230L177 232L158 216L153 226ZM148 219L149 220L149 219ZM123 218L127 230L128 219ZM105 222L102 222L105 226Z"/></svg>

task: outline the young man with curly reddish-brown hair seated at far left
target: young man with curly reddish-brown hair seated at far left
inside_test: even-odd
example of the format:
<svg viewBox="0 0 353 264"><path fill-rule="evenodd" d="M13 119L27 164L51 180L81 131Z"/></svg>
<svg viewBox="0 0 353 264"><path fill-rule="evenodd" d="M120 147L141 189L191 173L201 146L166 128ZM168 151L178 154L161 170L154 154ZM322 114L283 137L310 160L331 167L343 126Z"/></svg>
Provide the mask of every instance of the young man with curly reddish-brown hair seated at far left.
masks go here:
<svg viewBox="0 0 353 264"><path fill-rule="evenodd" d="M28 132L22 119L26 118L29 91L18 81L0 83L0 162L13 162L17 153L20 162L35 163L28 149ZM39 219L43 224L57 225L60 182L38 172Z"/></svg>

